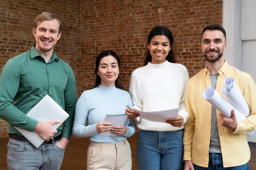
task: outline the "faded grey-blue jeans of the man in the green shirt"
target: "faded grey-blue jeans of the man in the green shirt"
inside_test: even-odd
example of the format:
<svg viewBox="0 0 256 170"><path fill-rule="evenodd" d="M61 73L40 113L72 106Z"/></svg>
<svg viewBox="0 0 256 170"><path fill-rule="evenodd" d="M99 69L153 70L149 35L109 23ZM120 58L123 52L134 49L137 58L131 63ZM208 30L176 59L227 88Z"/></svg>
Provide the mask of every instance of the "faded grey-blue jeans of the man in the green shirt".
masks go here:
<svg viewBox="0 0 256 170"><path fill-rule="evenodd" d="M14 139L9 139L7 147L9 170L59 170L65 152L56 143L42 144L36 148L30 142Z"/></svg>

